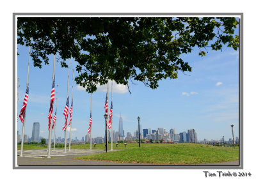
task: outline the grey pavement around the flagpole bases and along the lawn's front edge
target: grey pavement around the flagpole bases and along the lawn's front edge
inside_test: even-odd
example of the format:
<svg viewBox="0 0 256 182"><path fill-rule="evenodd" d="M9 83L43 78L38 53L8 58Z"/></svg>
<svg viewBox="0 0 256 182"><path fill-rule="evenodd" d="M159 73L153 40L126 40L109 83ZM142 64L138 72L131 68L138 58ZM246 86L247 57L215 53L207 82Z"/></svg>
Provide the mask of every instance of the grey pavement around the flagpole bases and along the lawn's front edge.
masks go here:
<svg viewBox="0 0 256 182"><path fill-rule="evenodd" d="M114 149L113 151L116 151ZM109 152L113 152L109 151ZM64 149L51 150L51 158L47 158L47 149L33 149L23 151L23 156L18 150L18 165L145 165L143 163L120 163L98 160L79 160L74 159L76 156L93 155L96 153L104 153L103 149L71 149L64 153ZM150 165L150 164L147 164ZM197 165L239 165L239 161L221 162L221 163L202 163Z"/></svg>

